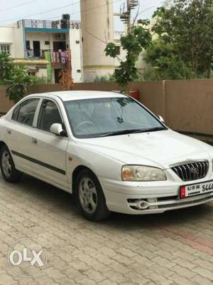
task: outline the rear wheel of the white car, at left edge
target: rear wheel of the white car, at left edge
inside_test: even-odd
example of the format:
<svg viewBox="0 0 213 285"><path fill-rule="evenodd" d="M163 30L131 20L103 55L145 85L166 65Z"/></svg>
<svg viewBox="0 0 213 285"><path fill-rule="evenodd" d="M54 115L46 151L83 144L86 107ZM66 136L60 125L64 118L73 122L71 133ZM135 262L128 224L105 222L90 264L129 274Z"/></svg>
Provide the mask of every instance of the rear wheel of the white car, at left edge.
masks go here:
<svg viewBox="0 0 213 285"><path fill-rule="evenodd" d="M0 150L0 167L1 174L7 182L18 182L21 179L21 172L16 170L13 162L13 157L9 148L4 145Z"/></svg>

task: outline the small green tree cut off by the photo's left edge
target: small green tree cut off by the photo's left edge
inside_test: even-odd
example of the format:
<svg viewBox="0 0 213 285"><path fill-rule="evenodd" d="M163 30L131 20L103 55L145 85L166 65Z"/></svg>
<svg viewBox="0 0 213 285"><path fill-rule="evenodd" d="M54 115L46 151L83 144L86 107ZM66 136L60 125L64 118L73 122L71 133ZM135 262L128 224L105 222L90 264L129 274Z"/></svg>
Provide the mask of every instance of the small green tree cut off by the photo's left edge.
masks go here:
<svg viewBox="0 0 213 285"><path fill-rule="evenodd" d="M11 58L7 53L0 53L0 83L4 84L4 81L9 79L12 71Z"/></svg>

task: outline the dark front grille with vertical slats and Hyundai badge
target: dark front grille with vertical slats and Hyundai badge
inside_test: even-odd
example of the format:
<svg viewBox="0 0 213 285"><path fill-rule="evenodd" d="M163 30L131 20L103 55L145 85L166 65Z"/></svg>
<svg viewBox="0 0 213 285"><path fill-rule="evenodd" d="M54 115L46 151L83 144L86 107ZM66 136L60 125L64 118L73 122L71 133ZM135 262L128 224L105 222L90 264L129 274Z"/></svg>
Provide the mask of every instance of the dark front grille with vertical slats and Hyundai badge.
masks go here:
<svg viewBox="0 0 213 285"><path fill-rule="evenodd" d="M209 170L209 162L192 162L185 165L177 165L172 167L172 170L182 179L183 181L191 181L204 178Z"/></svg>

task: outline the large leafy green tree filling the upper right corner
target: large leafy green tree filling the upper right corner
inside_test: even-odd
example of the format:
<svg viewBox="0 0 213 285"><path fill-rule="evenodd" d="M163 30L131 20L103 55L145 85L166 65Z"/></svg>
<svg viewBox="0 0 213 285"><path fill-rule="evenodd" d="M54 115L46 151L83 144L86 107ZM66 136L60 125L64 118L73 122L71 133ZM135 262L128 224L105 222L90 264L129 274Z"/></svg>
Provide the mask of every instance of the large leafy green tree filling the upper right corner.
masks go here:
<svg viewBox="0 0 213 285"><path fill-rule="evenodd" d="M213 61L213 0L174 0L160 7L153 31L192 72L209 78Z"/></svg>

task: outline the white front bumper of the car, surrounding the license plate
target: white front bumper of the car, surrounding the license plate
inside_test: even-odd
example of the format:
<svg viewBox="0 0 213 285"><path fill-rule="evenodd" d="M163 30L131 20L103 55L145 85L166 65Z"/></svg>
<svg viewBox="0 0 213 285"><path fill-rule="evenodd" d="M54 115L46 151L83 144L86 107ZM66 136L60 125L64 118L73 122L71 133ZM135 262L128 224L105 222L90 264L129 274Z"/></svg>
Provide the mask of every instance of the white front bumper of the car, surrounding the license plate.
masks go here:
<svg viewBox="0 0 213 285"><path fill-rule="evenodd" d="M213 200L213 193L180 199L180 186L189 185L189 182L182 182L182 180L178 182L169 180L124 182L103 177L99 177L99 180L104 190L108 209L124 214L163 213L168 210L192 207ZM213 176L192 181L191 184L209 180L213 180ZM138 205L141 207L138 207Z"/></svg>

